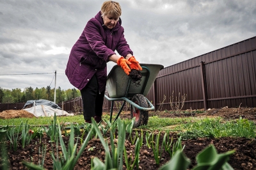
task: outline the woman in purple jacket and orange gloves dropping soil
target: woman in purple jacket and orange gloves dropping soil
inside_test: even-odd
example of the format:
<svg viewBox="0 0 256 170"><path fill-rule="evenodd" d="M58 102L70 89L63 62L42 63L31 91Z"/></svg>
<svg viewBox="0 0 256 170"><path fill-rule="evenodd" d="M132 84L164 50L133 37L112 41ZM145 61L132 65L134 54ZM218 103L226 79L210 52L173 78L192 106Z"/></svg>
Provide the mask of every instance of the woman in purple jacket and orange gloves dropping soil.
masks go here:
<svg viewBox="0 0 256 170"><path fill-rule="evenodd" d="M121 13L119 3L104 2L100 12L87 22L70 52L65 72L70 83L81 91L87 123L92 123L92 118L97 123L102 120L108 61L117 63L127 75L131 69L142 70L124 38Z"/></svg>

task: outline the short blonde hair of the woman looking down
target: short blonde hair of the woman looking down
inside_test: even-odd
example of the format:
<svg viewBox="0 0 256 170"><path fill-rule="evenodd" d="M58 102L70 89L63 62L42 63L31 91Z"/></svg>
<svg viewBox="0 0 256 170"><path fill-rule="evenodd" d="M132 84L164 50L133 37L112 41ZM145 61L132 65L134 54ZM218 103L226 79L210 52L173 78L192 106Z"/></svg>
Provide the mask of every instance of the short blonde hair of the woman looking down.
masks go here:
<svg viewBox="0 0 256 170"><path fill-rule="evenodd" d="M115 1L105 1L101 6L101 16L111 15L115 18L119 18L122 14L121 6Z"/></svg>

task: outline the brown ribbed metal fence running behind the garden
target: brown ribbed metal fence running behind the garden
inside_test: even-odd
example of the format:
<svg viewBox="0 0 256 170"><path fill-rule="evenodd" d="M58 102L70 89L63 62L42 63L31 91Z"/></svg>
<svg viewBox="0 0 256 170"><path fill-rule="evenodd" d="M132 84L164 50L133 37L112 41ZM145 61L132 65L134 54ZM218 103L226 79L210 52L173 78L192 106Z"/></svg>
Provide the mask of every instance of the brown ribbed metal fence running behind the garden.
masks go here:
<svg viewBox="0 0 256 170"><path fill-rule="evenodd" d="M147 98L156 110L171 110L170 99L182 109L256 107L256 36L168 66L157 75ZM108 95L108 91L106 91ZM165 98L165 100L164 100ZM116 109L122 102L114 102ZM0 111L24 104L0 104ZM62 107L62 104L58 104ZM104 98L104 111L111 102ZM129 105L125 106L128 110ZM83 110L81 97L63 102L65 111ZM123 109L123 110L124 110Z"/></svg>

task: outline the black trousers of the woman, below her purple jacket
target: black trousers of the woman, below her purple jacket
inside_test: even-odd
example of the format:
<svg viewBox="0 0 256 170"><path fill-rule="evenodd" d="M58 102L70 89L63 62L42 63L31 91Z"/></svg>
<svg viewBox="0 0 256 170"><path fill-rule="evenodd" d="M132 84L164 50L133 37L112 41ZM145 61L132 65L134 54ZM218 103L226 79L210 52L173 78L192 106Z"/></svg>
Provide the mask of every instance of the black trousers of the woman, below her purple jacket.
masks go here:
<svg viewBox="0 0 256 170"><path fill-rule="evenodd" d="M94 116L102 116L104 91L99 91L96 75L80 90L83 100L84 120L91 120Z"/></svg>

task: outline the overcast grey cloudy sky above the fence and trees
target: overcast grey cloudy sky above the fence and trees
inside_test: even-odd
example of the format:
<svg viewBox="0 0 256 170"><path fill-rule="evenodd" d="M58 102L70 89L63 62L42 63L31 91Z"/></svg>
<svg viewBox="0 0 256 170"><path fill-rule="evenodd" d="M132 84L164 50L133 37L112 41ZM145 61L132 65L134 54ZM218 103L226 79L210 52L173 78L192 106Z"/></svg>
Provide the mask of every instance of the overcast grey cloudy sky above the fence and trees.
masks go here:
<svg viewBox="0 0 256 170"><path fill-rule="evenodd" d="M0 0L0 87L74 88L72 45L99 0ZM255 0L120 0L125 38L140 63L171 66L256 35ZM108 63L108 72L115 63Z"/></svg>

